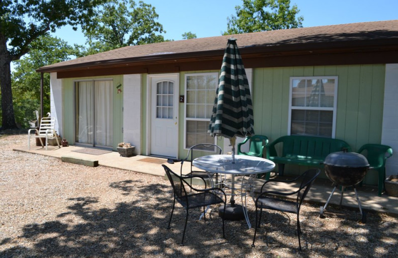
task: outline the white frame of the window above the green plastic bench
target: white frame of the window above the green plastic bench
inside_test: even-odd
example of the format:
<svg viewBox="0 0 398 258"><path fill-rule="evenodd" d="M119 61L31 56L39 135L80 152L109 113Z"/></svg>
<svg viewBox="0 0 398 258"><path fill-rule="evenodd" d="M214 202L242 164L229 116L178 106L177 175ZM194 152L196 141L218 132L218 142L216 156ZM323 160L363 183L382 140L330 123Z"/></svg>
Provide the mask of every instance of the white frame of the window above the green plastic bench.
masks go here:
<svg viewBox="0 0 398 258"><path fill-rule="evenodd" d="M293 94L293 80L324 80L334 79L334 99L333 107L292 107L292 94ZM338 88L338 76L301 76L301 77L290 77L290 88L289 88L289 118L288 118L288 135L291 135L292 128L292 110L320 110L320 111L333 111L333 122L332 122L332 138L336 137L336 117L337 117L337 88Z"/></svg>

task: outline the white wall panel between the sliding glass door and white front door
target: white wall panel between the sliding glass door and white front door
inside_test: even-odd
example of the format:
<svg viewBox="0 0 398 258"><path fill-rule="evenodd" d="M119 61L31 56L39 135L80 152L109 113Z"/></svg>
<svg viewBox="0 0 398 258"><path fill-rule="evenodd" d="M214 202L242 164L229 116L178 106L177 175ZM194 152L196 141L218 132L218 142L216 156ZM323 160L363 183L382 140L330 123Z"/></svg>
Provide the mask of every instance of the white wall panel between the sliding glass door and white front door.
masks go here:
<svg viewBox="0 0 398 258"><path fill-rule="evenodd" d="M123 141L141 154L141 74L123 75Z"/></svg>

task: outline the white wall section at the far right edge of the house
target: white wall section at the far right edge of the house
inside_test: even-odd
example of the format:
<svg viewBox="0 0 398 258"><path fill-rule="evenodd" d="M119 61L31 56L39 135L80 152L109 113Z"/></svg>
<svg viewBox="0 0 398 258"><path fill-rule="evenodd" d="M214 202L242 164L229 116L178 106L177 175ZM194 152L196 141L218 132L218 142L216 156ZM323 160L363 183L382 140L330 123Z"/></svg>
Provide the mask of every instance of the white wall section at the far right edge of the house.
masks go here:
<svg viewBox="0 0 398 258"><path fill-rule="evenodd" d="M382 144L395 152L387 159L386 176L398 174L398 64L386 65Z"/></svg>

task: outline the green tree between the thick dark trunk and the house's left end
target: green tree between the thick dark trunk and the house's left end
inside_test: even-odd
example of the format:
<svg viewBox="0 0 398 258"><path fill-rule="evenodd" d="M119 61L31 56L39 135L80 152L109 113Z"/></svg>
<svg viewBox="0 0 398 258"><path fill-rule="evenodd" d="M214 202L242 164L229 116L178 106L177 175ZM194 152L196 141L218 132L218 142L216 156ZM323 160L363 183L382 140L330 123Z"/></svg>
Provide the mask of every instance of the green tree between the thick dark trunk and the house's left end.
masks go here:
<svg viewBox="0 0 398 258"><path fill-rule="evenodd" d="M29 45L31 51L15 61L12 72L12 94L16 123L23 128L30 127L29 122L35 120L33 111L40 106L40 74L37 67L66 61L75 55L73 47L65 41L51 37L48 33L40 36ZM50 111L50 74L44 73L43 113Z"/></svg>

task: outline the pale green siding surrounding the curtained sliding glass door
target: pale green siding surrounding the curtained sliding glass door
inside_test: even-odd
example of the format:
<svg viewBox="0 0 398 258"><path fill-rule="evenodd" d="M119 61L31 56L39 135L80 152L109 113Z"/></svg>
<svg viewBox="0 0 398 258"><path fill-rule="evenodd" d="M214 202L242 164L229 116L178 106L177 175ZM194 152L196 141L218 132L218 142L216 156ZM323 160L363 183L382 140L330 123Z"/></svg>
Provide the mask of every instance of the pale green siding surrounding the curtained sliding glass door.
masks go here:
<svg viewBox="0 0 398 258"><path fill-rule="evenodd" d="M70 144L75 144L74 138L74 81L83 79L112 79L113 80L113 150L116 150L117 144L123 141L123 134L121 129L123 127L123 75L106 76L106 77L82 77L82 78L67 78L62 81L62 96L63 96L63 137L68 140ZM116 94L116 86L121 83L122 92Z"/></svg>

